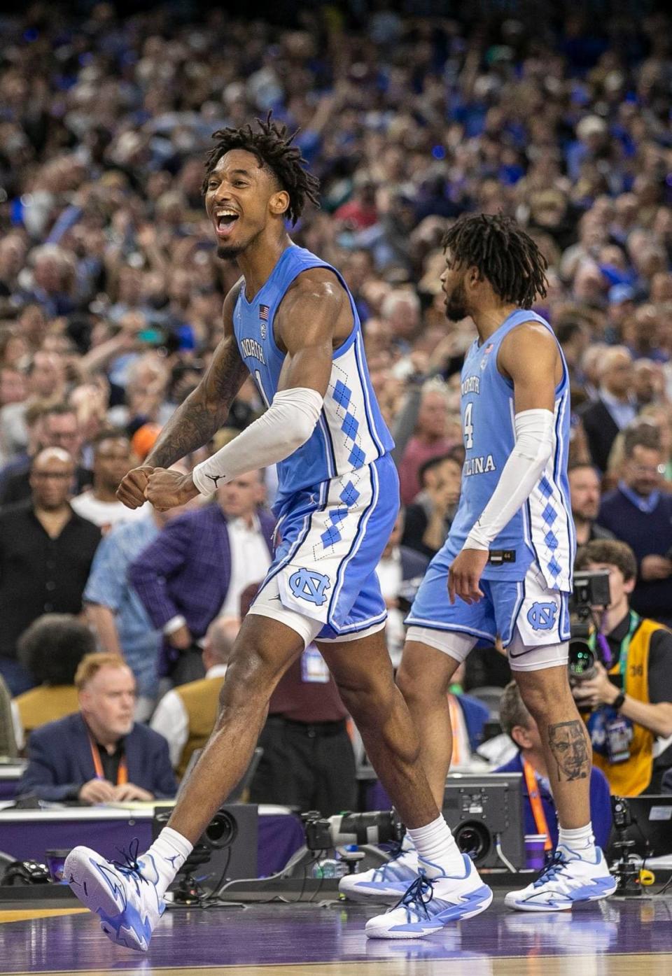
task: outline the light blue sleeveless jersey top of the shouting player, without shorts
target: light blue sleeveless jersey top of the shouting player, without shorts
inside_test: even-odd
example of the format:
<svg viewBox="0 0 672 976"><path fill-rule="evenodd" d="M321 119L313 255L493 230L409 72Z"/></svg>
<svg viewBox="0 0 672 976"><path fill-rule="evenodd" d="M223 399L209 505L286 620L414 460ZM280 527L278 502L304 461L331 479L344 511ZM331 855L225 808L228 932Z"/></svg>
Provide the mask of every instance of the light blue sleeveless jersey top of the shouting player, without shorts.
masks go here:
<svg viewBox="0 0 672 976"><path fill-rule="evenodd" d="M276 511L301 490L370 465L394 446L369 379L353 297L339 272L305 248L291 245L283 251L251 302L245 298L243 283L233 312L240 355L269 406L284 361L273 335L275 313L292 282L311 267L326 267L336 274L350 299L354 326L345 343L334 350L331 378L313 436L277 466ZM301 328L301 322L296 328Z"/></svg>

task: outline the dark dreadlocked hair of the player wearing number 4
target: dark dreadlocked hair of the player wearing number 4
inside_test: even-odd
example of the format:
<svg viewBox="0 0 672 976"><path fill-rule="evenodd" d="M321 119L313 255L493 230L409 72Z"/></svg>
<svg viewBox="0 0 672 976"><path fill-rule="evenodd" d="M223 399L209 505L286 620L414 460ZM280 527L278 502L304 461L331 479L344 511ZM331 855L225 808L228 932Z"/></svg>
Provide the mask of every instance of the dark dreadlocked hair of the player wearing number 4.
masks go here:
<svg viewBox="0 0 672 976"><path fill-rule="evenodd" d="M529 234L510 217L461 217L445 233L443 250L455 262L475 265L503 302L530 308L546 295L548 262Z"/></svg>

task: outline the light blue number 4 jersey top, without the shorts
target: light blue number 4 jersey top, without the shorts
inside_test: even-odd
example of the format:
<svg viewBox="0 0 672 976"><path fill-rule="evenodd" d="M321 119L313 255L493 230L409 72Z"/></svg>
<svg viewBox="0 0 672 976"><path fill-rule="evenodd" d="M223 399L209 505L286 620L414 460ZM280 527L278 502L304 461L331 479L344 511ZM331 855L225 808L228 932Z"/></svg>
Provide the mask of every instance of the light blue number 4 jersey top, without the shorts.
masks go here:
<svg viewBox="0 0 672 976"><path fill-rule="evenodd" d="M478 341L471 346L462 367L466 457L460 504L448 536L448 545L455 554L490 501L516 443L514 387L497 369L497 355L512 329L529 321L540 322L551 331L540 315L519 308L483 346ZM488 564L483 571L484 580L522 580L530 563L536 560L549 590L571 590L575 539L567 480L568 447L569 381L563 359L563 379L556 389L553 453L523 508L490 546L513 550L516 561Z"/></svg>

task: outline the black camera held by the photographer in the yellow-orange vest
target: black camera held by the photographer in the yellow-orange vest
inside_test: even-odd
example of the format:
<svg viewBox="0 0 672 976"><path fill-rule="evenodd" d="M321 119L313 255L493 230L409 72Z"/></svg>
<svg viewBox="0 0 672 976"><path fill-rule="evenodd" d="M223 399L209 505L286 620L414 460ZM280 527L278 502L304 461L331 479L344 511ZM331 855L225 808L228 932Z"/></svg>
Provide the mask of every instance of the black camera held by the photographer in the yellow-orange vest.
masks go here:
<svg viewBox="0 0 672 976"><path fill-rule="evenodd" d="M590 646L590 637L599 630L594 607L608 607L611 602L609 572L604 569L574 573L574 589L569 598L569 683L588 681L597 673L601 661L600 647ZM604 664L604 662L602 662Z"/></svg>

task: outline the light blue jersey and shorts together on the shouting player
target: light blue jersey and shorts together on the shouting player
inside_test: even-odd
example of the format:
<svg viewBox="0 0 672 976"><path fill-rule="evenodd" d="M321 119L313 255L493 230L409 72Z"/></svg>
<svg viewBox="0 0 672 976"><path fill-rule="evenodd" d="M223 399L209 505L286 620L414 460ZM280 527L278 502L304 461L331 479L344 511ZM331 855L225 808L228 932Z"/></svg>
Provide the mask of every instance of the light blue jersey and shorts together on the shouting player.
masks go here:
<svg viewBox="0 0 672 976"><path fill-rule="evenodd" d="M296 630L305 645L349 641L385 626L376 566L399 510L394 442L371 387L357 308L335 268L292 245L252 302L243 285L233 311L240 354L268 406L284 361L273 336L275 313L292 282L311 267L338 277L350 299L353 331L333 352L313 435L277 466L277 549L250 609Z"/></svg>

